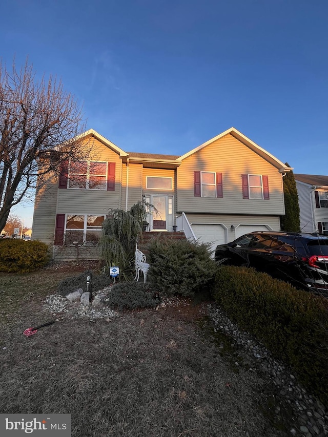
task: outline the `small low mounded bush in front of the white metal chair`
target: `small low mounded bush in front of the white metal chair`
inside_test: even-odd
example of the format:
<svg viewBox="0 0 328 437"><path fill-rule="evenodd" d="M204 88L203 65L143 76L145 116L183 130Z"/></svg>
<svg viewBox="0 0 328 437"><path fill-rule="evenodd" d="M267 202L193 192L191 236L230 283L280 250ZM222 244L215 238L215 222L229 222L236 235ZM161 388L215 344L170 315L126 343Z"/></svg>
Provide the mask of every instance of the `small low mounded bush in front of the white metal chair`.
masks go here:
<svg viewBox="0 0 328 437"><path fill-rule="evenodd" d="M122 311L124 309L151 308L159 304L149 284L139 282L120 282L111 289L108 306Z"/></svg>

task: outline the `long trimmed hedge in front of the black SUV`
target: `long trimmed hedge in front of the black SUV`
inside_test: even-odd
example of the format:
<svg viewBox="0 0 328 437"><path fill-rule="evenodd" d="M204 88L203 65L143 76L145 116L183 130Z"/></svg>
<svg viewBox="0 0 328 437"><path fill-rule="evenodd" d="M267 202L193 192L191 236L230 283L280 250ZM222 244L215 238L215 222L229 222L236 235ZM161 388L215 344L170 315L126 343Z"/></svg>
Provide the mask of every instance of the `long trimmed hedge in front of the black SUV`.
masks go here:
<svg viewBox="0 0 328 437"><path fill-rule="evenodd" d="M214 298L328 403L328 301L251 268L217 269Z"/></svg>

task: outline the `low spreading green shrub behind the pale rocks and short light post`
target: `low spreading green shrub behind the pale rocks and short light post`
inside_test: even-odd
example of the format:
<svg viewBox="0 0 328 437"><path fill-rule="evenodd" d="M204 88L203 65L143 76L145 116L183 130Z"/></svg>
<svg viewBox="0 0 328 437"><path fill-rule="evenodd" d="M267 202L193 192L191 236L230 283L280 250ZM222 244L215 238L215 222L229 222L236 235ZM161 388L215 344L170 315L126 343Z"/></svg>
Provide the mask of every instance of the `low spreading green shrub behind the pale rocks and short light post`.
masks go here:
<svg viewBox="0 0 328 437"><path fill-rule="evenodd" d="M90 270L86 270L76 276L70 276L58 284L58 292L66 296L71 292L75 292L78 288L82 288L84 292L87 291L87 277L91 276L91 286L92 292L102 290L103 288L109 287L112 280L107 275L100 275Z"/></svg>

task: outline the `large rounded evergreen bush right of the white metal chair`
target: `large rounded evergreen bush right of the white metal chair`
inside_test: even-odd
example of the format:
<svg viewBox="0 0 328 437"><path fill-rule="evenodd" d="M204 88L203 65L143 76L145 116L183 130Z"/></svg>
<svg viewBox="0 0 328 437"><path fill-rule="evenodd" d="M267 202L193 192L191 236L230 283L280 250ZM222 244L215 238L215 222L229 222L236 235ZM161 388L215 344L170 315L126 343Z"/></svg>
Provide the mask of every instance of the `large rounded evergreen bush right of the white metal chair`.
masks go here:
<svg viewBox="0 0 328 437"><path fill-rule="evenodd" d="M211 286L216 264L208 244L154 238L148 251L149 280L160 294L194 296Z"/></svg>

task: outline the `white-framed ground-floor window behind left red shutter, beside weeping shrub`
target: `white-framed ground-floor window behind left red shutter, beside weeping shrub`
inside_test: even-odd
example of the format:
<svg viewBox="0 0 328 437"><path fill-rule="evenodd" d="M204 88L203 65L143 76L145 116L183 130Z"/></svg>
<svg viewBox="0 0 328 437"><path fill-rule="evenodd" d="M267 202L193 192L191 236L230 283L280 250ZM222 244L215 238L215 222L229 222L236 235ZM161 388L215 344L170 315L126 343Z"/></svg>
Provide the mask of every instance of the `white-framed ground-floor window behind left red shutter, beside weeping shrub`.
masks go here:
<svg viewBox="0 0 328 437"><path fill-rule="evenodd" d="M70 245L77 241L78 244L87 246L96 245L105 217L105 215L66 214L65 243Z"/></svg>

